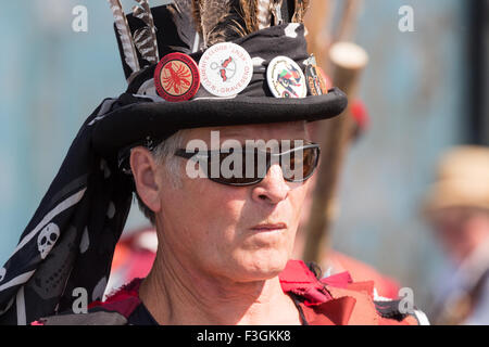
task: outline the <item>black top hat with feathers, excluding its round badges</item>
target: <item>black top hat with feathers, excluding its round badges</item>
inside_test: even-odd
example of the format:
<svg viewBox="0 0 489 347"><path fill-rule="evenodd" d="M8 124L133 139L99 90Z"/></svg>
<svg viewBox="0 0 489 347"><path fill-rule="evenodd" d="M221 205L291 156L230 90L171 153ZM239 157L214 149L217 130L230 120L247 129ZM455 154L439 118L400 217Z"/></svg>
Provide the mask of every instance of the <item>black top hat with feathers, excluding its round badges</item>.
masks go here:
<svg viewBox="0 0 489 347"><path fill-rule="evenodd" d="M268 87L267 67L276 56L287 56L305 69L310 55L301 22L308 1L177 0L150 10L147 1L138 0L140 7L127 17L118 0L110 2L129 83L126 93L139 98L98 121L93 141L102 155L112 156L148 137L164 139L185 128L312 121L337 116L347 106L344 93L337 88L293 99L275 98ZM180 102L156 93L154 72L160 57L180 52L199 63L206 50L224 41L240 46L252 59L252 78L242 91L221 98L200 86L191 100Z"/></svg>

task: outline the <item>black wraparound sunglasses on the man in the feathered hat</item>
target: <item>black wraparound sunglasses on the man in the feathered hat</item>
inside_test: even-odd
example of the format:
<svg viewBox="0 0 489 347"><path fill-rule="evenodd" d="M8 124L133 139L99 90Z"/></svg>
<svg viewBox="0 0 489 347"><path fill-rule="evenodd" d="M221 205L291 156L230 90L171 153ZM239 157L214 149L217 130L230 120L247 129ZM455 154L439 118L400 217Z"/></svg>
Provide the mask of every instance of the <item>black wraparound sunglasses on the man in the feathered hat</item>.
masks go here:
<svg viewBox="0 0 489 347"><path fill-rule="evenodd" d="M308 143L280 153L271 153L259 149L195 152L179 149L175 152L175 155L199 162L206 178L214 182L243 187L261 182L272 165L276 163L280 165L286 181L304 182L314 174L317 167L319 145ZM223 171L224 163L229 163L229 165L228 169ZM238 165L235 165L236 163Z"/></svg>

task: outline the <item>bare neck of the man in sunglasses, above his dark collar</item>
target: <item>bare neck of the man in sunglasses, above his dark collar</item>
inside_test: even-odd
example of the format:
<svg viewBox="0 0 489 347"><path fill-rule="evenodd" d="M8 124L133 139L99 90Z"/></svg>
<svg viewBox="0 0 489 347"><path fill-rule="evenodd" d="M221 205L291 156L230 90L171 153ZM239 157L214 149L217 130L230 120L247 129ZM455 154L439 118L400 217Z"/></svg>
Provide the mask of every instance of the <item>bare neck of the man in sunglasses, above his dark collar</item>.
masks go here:
<svg viewBox="0 0 489 347"><path fill-rule="evenodd" d="M159 253L139 297L159 324L300 324L278 277L238 283L181 268Z"/></svg>

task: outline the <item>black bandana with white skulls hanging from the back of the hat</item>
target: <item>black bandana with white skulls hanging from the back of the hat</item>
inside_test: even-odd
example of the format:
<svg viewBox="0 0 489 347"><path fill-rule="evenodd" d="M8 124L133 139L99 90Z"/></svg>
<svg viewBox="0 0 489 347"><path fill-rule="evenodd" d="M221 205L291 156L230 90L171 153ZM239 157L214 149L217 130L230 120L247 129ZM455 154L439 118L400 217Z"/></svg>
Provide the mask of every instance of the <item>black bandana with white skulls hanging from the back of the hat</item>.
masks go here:
<svg viewBox="0 0 489 347"><path fill-rule="evenodd" d="M73 291L101 299L130 204L130 178L92 149L92 125L134 102L106 99L75 138L51 187L1 269L0 323L71 310ZM55 245L55 247L54 247Z"/></svg>

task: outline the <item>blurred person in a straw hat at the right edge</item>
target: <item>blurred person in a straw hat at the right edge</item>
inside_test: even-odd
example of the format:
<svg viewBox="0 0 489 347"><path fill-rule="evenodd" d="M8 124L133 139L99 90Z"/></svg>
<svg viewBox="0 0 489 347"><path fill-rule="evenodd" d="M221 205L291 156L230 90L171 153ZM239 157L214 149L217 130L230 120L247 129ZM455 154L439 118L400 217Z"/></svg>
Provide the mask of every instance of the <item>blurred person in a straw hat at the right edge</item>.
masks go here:
<svg viewBox="0 0 489 347"><path fill-rule="evenodd" d="M439 290L437 322L489 324L489 149L448 151L425 208L453 267Z"/></svg>

